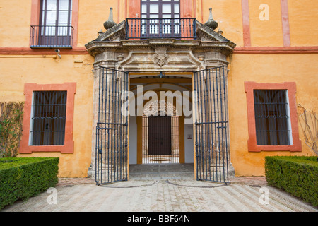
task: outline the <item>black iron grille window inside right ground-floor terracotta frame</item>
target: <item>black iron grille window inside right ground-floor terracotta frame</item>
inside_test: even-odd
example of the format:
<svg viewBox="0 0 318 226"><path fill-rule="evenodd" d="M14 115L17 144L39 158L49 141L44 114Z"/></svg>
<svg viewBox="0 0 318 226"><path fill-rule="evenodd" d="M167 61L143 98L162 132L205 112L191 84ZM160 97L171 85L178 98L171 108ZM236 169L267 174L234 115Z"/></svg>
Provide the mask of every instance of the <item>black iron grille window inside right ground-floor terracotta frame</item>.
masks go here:
<svg viewBox="0 0 318 226"><path fill-rule="evenodd" d="M287 90L254 90L257 145L291 145Z"/></svg>

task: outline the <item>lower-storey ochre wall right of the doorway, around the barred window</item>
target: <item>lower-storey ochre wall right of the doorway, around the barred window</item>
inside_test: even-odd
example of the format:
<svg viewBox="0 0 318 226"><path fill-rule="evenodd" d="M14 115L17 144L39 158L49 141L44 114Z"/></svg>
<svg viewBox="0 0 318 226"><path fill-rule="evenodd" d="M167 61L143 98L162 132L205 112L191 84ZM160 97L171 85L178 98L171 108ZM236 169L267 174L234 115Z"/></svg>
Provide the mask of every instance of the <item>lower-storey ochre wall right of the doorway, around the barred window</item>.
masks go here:
<svg viewBox="0 0 318 226"><path fill-rule="evenodd" d="M317 112L318 54L234 54L228 76L228 106L230 153L237 176L264 175L264 157L267 155L314 155L305 144L299 127L302 151L261 151L247 149L248 122L245 81L257 83L296 83L296 102L305 109ZM299 123L298 123L299 124Z"/></svg>

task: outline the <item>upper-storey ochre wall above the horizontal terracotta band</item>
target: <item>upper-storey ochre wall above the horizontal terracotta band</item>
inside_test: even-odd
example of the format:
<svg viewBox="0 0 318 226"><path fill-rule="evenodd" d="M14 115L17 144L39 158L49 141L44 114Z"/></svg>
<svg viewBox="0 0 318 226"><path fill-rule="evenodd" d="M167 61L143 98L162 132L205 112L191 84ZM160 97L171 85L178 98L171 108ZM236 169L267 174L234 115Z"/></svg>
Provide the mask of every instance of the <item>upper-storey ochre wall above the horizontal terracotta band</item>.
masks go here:
<svg viewBox="0 0 318 226"><path fill-rule="evenodd" d="M0 1L0 48L29 47L31 6L35 0ZM201 23L208 20L208 8L213 8L213 18L218 21L218 28L223 35L237 47L243 46L242 37L242 1L244 0L182 0L184 16L194 16ZM249 26L252 46L281 47L283 46L281 1L253 0L249 3ZM261 4L269 5L269 20L259 20ZM78 6L78 45L84 44L97 37L103 23L108 19L110 7L113 8L116 23L126 17L136 17L140 13L139 0L92 0L80 1ZM318 19L318 1L288 0L288 16L290 25L291 46L317 46L318 30L315 22ZM140 16L140 15L139 15Z"/></svg>

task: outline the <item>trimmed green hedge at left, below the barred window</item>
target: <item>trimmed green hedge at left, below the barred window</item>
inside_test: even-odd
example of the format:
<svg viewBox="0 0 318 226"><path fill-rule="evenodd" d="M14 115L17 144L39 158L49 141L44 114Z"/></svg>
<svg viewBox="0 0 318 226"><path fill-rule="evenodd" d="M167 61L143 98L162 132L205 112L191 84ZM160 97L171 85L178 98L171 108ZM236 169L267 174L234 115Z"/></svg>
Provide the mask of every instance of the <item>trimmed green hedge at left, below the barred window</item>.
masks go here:
<svg viewBox="0 0 318 226"><path fill-rule="evenodd" d="M58 164L59 157L0 158L0 209L56 186Z"/></svg>

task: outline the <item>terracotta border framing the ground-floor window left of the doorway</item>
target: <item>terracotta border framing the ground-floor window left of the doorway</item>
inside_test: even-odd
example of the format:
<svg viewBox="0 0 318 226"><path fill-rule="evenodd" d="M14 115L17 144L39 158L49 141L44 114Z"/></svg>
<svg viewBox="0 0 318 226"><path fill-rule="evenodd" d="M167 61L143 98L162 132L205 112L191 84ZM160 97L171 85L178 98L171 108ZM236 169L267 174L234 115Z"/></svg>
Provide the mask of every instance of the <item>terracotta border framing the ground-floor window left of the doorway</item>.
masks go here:
<svg viewBox="0 0 318 226"><path fill-rule="evenodd" d="M29 145L30 123L33 91L67 91L66 102L66 122L65 122L65 139L64 145ZM76 83L63 84L36 84L25 83L24 94L25 104L23 109L23 133L19 148L20 154L30 154L33 152L60 152L73 153L73 114L74 114L74 95L76 93Z"/></svg>

